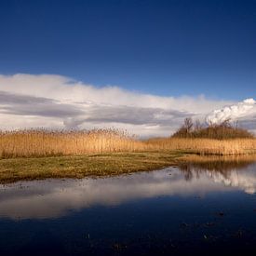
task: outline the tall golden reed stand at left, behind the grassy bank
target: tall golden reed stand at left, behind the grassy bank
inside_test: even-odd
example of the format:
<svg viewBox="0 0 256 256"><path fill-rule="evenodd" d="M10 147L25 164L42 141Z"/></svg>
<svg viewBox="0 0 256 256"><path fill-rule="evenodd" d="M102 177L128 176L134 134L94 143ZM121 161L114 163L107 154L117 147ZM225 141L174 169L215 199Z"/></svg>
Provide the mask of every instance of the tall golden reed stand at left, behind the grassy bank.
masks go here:
<svg viewBox="0 0 256 256"><path fill-rule="evenodd" d="M17 130L0 133L0 156L31 157L133 152L143 143L116 129L90 131Z"/></svg>

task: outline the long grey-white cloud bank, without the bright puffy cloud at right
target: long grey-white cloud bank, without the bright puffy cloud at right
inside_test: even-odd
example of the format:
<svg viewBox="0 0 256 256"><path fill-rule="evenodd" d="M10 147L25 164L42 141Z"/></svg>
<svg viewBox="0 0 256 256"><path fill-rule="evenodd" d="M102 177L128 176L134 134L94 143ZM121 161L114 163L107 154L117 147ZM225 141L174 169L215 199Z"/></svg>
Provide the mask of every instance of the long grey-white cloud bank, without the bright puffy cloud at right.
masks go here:
<svg viewBox="0 0 256 256"><path fill-rule="evenodd" d="M186 116L204 118L231 101L162 97L97 88L52 74L0 75L0 128L124 128L142 136L169 135Z"/></svg>

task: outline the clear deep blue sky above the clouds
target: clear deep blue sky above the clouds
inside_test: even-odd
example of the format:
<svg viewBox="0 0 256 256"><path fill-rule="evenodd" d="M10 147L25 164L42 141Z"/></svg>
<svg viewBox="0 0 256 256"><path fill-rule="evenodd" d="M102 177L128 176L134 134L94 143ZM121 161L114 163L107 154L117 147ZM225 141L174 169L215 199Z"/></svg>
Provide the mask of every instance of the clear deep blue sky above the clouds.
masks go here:
<svg viewBox="0 0 256 256"><path fill-rule="evenodd" d="M160 96L255 96L256 1L0 2L0 74Z"/></svg>

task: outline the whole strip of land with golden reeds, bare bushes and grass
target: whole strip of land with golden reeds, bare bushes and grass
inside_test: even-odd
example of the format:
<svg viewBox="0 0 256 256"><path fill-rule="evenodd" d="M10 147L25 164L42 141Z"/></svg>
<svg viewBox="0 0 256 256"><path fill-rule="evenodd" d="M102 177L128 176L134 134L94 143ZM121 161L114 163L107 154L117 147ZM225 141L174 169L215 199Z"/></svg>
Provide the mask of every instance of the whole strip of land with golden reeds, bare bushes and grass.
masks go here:
<svg viewBox="0 0 256 256"><path fill-rule="evenodd" d="M188 118L173 136L148 140L117 129L2 131L0 182L110 176L181 165L187 155L255 152L247 130L228 122L203 128Z"/></svg>

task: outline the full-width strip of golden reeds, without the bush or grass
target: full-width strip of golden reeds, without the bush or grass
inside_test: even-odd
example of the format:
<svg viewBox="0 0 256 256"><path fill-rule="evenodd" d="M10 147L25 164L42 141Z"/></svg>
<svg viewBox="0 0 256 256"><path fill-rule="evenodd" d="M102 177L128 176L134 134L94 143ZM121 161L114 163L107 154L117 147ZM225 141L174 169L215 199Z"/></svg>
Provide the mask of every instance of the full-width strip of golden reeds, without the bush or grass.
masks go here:
<svg viewBox="0 0 256 256"><path fill-rule="evenodd" d="M117 129L58 131L29 129L0 132L0 157L88 155L112 152L183 151L198 155L256 152L256 139L159 138L140 141Z"/></svg>

